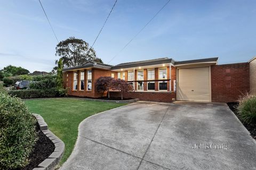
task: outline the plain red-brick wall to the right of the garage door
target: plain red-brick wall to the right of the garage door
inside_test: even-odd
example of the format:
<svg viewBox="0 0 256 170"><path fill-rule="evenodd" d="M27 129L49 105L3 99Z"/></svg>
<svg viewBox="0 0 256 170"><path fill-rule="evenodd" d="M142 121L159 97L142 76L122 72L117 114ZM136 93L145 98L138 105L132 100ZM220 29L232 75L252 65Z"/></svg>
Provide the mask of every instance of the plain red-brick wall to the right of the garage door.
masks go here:
<svg viewBox="0 0 256 170"><path fill-rule="evenodd" d="M211 66L212 102L233 102L250 90L249 64Z"/></svg>

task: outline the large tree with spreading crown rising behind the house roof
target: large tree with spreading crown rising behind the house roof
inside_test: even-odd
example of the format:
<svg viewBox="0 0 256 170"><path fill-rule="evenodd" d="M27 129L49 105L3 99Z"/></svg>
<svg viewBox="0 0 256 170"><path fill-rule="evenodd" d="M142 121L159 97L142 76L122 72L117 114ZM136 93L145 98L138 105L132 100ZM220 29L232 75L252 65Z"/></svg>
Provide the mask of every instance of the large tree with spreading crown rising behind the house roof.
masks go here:
<svg viewBox="0 0 256 170"><path fill-rule="evenodd" d="M60 41L56 47L55 55L63 59L64 67L83 65L89 61L102 62L96 56L95 50L89 47L88 43L75 37ZM55 64L57 63L58 61L55 61Z"/></svg>

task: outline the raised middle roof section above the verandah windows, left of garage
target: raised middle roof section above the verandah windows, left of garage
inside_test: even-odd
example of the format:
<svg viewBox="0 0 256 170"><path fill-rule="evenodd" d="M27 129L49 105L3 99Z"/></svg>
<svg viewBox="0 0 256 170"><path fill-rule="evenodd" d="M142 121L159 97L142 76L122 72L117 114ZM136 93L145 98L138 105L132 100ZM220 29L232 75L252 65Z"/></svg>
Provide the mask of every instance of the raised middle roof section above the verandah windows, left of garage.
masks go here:
<svg viewBox="0 0 256 170"><path fill-rule="evenodd" d="M124 69L124 68L129 68L129 67L138 67L138 66L146 66L146 65L156 65L156 64L166 64L166 63L173 63L174 60L172 58L156 58L153 60L143 60L143 61L138 61L138 62L128 62L128 63L121 63L117 64L115 66L112 66L111 69Z"/></svg>

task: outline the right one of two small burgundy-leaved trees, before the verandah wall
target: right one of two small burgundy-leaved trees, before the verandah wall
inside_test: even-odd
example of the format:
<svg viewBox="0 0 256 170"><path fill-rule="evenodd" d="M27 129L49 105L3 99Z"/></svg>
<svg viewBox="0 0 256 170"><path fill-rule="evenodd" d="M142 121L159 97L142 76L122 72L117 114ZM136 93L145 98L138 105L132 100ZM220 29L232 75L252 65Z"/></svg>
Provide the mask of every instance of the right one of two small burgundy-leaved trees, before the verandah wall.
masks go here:
<svg viewBox="0 0 256 170"><path fill-rule="evenodd" d="M131 84L127 83L121 79L114 79L112 82L112 89L121 92L121 99L123 100L123 93L127 91L132 91L133 87Z"/></svg>

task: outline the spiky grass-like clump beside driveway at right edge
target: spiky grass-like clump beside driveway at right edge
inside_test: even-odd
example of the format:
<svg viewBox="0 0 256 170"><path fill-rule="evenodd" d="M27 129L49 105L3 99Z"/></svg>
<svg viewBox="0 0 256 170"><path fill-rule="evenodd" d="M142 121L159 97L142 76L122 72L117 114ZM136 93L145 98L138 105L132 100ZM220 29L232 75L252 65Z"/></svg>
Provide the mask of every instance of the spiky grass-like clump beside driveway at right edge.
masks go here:
<svg viewBox="0 0 256 170"><path fill-rule="evenodd" d="M245 94L239 98L238 116L247 124L256 123L256 96Z"/></svg>

